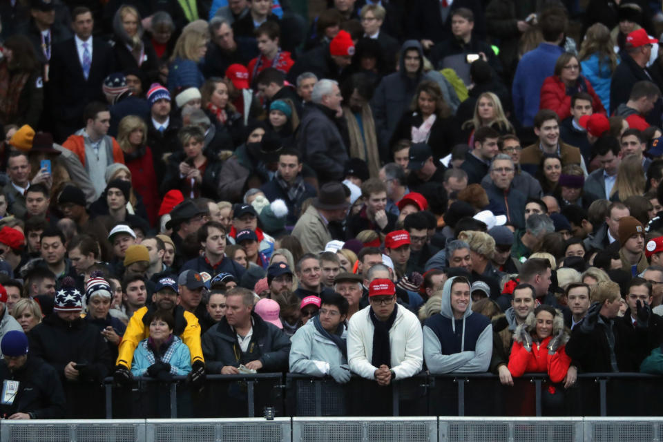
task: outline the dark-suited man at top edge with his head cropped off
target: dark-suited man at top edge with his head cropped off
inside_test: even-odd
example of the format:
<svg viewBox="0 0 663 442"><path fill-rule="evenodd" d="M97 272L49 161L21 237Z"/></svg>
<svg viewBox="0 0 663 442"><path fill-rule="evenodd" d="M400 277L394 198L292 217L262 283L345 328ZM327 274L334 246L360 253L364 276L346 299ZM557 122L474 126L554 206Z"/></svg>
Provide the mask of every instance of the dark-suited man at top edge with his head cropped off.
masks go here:
<svg viewBox="0 0 663 442"><path fill-rule="evenodd" d="M451 11L468 8L474 13L474 36L486 39L486 19L480 0L418 0L407 17L407 37L421 42L424 50L453 37Z"/></svg>

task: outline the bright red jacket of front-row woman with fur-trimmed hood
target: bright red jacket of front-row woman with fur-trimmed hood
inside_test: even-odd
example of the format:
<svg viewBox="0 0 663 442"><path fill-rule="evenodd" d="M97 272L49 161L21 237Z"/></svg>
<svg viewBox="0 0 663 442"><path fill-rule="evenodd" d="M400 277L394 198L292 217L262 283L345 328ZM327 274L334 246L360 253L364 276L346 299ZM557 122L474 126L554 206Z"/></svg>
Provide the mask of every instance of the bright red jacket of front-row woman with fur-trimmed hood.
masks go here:
<svg viewBox="0 0 663 442"><path fill-rule="evenodd" d="M564 381L571 358L566 356L564 346L559 347L552 356L549 355L547 347L550 338L552 336L548 336L540 344L532 343L531 352L528 352L521 343L513 341L507 366L511 376L519 378L525 373L548 373L553 383Z"/></svg>

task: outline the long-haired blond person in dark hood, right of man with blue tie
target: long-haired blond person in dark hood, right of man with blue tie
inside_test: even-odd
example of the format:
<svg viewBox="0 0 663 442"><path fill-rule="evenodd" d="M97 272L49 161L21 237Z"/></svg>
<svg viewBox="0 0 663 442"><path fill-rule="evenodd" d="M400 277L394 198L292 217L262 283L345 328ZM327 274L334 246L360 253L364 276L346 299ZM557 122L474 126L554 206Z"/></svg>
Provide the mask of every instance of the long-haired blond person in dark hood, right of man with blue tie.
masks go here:
<svg viewBox="0 0 663 442"><path fill-rule="evenodd" d="M152 44L143 39L140 13L133 6L121 6L113 18L113 56L118 71L142 70L150 79L158 72L157 54Z"/></svg>

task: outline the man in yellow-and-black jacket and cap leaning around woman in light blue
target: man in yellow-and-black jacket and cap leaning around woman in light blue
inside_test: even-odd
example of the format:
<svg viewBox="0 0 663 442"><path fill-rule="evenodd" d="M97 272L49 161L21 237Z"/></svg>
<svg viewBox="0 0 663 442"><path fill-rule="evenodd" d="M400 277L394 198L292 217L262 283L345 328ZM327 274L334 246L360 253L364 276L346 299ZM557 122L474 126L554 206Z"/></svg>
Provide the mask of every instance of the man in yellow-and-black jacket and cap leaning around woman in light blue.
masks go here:
<svg viewBox="0 0 663 442"><path fill-rule="evenodd" d="M196 386L202 385L205 378L205 361L202 356L202 347L200 345L200 324L198 318L189 311L184 310L177 303L179 290L174 278L161 278L157 282L157 287L152 295L152 305L138 309L126 327L122 342L119 344L119 356L115 365L115 380L118 383L128 383L131 381L131 361L133 361L133 352L141 340L148 338L150 333L149 324L146 324L143 318L148 311L157 309L167 310L175 318L175 329L173 334L182 339L182 342L189 347L191 353L191 373L188 381Z"/></svg>

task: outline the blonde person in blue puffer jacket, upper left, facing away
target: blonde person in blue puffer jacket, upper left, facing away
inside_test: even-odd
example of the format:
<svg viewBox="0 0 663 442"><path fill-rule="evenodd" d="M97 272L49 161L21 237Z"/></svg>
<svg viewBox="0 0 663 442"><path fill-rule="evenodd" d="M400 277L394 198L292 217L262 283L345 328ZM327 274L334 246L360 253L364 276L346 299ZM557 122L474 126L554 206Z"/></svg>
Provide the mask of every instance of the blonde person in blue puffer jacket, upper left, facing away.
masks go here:
<svg viewBox="0 0 663 442"><path fill-rule="evenodd" d="M177 88L200 88L205 77L198 64L205 57L209 30L200 26L186 26L175 42L168 70L167 86L171 93Z"/></svg>

